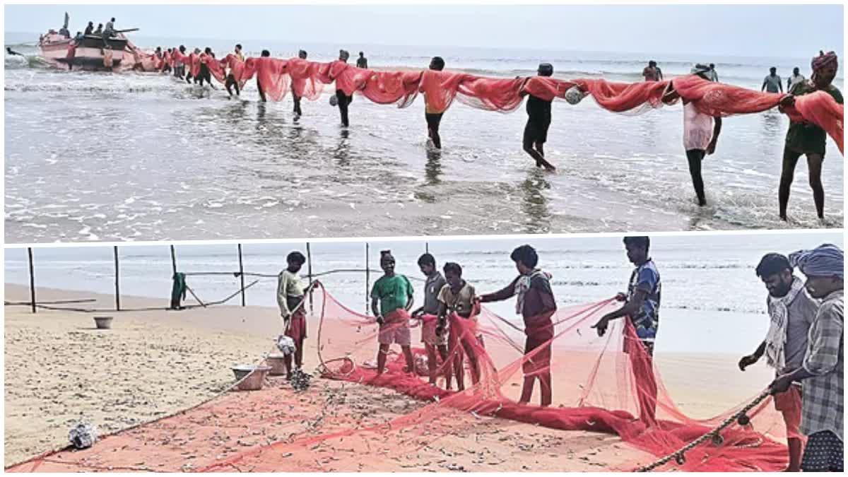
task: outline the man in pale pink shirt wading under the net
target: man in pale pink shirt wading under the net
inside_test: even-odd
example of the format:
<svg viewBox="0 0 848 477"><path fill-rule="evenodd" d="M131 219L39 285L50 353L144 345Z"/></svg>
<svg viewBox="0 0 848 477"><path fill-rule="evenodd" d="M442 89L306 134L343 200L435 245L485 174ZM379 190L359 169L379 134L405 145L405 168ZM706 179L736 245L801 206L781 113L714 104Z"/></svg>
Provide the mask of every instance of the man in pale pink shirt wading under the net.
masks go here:
<svg viewBox="0 0 848 477"><path fill-rule="evenodd" d="M695 65L691 74L701 79L712 81L710 67ZM673 83L668 93L663 96L663 101L672 102L680 95L674 90ZM704 178L701 177L701 163L707 155L716 152L718 135L722 132L721 116L711 116L701 113L695 104L683 98L683 149L686 151L686 160L689 161L689 176L692 177L692 185L695 187L695 195L698 205L706 205L706 194L704 192Z"/></svg>

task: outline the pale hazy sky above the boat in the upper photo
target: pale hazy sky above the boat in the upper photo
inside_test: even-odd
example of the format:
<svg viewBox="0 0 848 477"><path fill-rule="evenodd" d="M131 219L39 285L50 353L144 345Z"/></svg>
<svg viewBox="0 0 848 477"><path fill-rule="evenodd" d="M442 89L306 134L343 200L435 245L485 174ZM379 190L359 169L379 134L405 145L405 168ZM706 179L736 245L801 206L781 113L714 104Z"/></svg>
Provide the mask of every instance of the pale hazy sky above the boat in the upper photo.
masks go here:
<svg viewBox="0 0 848 477"><path fill-rule="evenodd" d="M6 32L116 17L137 35L311 43L711 53L842 53L842 5L6 5ZM841 54L840 54L841 55Z"/></svg>

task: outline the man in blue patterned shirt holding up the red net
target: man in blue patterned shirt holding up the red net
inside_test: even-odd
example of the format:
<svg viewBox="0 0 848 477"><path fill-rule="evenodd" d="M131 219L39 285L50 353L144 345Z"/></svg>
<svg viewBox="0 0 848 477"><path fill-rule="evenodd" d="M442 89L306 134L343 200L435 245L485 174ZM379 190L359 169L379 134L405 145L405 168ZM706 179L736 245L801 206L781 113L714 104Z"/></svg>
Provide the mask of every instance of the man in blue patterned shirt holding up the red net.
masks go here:
<svg viewBox="0 0 848 477"><path fill-rule="evenodd" d="M654 261L650 259L650 238L625 237L624 248L628 260L636 266L630 275L627 294L620 293L616 299L624 305L616 311L611 311L592 325L598 331L598 336L606 333L612 320L628 317L636 331L636 336L644 349L638 356L630 356L633 374L637 379L644 378L643 383L636 383L639 399L640 418L652 422L656 418L656 378L653 373L654 340L660 325L660 272L656 270ZM628 341L625 340L625 345ZM627 348L625 348L627 349ZM639 370L639 371L637 371Z"/></svg>

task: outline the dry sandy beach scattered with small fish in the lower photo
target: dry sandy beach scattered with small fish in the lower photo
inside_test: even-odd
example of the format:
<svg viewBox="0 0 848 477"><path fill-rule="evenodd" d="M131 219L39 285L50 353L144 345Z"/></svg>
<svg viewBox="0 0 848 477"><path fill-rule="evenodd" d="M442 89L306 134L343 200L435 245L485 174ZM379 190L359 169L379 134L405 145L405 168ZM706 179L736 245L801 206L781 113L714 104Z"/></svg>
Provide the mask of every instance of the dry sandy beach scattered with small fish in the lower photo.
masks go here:
<svg viewBox="0 0 848 477"><path fill-rule="evenodd" d="M27 289L20 285L6 284L5 293L8 301L28 299ZM114 306L113 297L108 295L54 289L38 289L37 293L39 301L95 298L96 303L84 305L105 309ZM122 306L128 308L166 305L165 299L122 297ZM94 329L92 313L39 310L33 315L26 306L5 306L5 466L64 446L70 426L81 416L96 424L101 433L108 433L206 401L232 384L230 366L259 361L271 351L273 338L279 332L277 312L268 307L217 306L112 315L113 329L98 331ZM314 346L315 340L307 343ZM312 370L315 349L305 351L306 368ZM728 382L722 368L731 365L732 358L663 356L660 366L675 401L696 417L708 417L758 390L759 379L750 379L750 374L746 379L729 382L721 390L714 386L717 379ZM693 374L697 376L694 383ZM379 424L424 406L421 401L390 390L323 379L315 380L304 393L295 393L285 381L275 379L268 389L233 391L215 401L216 406L230 409L246 405L268 407L269 402L274 405L264 415L273 418L261 423L239 422L237 415L227 420L220 412L212 412L220 422L211 428L200 426L215 429L204 436L194 435L192 429L170 429L173 424L165 419L146 426L143 433L142 429L133 429L120 439L106 439L83 452L63 452L58 458L64 455L74 462L85 458L91 469L114 469L116 457L126 454L120 459L126 470L200 469L232 452L244 452L292 435L324 434L349 428L351 423ZM328 406L332 412L328 412ZM204 407L197 412L185 416L192 423L195 416L209 419ZM332 418L323 418L326 414L332 414ZM450 418L457 423L454 432L439 435L403 457L371 452L371 446L391 446L391 442L386 441L388 435L369 433L344 441L368 446L367 459L361 458L366 451L363 448L361 452L337 452L324 460L321 455L293 452L290 462L293 469L299 470L591 471L627 470L634 463L652 460L611 435L564 432L499 418ZM228 445L220 444L219 429L226 435ZM208 439L210 450L193 455L178 452L184 449L173 443L167 445L181 438ZM156 449L161 456L146 460L139 454L133 460L133 446L149 440L159 445ZM121 446L114 447L118 444ZM73 469L59 463L44 463L40 468Z"/></svg>

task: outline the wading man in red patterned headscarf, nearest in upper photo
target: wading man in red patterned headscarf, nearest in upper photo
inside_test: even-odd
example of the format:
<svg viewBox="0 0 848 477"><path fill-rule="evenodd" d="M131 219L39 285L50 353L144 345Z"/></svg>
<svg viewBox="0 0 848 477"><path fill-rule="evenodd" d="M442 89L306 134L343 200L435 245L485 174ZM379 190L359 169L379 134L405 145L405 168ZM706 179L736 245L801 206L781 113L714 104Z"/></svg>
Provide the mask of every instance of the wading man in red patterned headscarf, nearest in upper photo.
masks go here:
<svg viewBox="0 0 848 477"><path fill-rule="evenodd" d="M812 59L812 78L792 85L788 97L784 98L780 105L788 107L795 104L795 96L823 91L834 98L836 103L843 104L842 93L831 84L839 69L839 59L836 53L825 54L819 52ZM824 219L824 188L822 186L822 162L824 160L824 148L827 142L827 132L807 121L789 123L789 131L786 132L786 144L784 146L783 171L780 174L780 187L778 189L778 202L780 205L780 218L787 220L786 208L789 205L789 189L795 178L795 166L801 155L806 155L806 164L809 168L810 188L812 188L812 199L816 203L816 213L819 220Z"/></svg>

